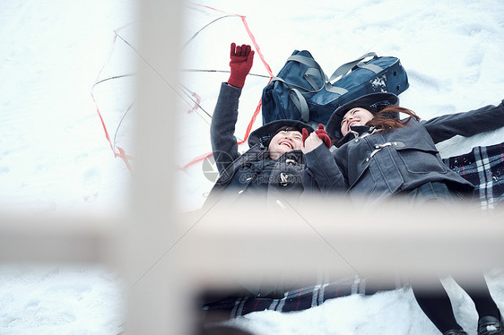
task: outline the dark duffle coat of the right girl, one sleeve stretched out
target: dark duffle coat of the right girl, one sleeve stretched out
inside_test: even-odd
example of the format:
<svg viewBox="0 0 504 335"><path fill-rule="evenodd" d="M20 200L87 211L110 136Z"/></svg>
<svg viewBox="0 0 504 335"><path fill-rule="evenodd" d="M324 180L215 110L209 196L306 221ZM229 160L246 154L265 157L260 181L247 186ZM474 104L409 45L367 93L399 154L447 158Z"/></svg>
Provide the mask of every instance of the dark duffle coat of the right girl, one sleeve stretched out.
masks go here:
<svg viewBox="0 0 504 335"><path fill-rule="evenodd" d="M434 117L389 133L371 132L368 126L352 127L344 144L327 158L326 150L306 155L307 181L327 191L347 191L376 198L443 182L452 191L472 192L473 185L450 170L435 143L455 135L472 136L504 125L504 106L487 106L465 113ZM319 148L317 148L319 149ZM323 162L323 164L320 164Z"/></svg>

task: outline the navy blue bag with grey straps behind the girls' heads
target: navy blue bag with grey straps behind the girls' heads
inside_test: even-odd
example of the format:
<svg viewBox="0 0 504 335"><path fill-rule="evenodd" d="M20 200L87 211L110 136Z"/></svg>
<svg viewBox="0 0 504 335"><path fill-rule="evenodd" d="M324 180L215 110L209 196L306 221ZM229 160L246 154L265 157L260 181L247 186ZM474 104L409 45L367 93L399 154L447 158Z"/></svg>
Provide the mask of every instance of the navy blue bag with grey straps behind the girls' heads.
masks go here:
<svg viewBox="0 0 504 335"><path fill-rule="evenodd" d="M263 90L263 125L280 119L326 125L345 102L373 92L398 95L408 86L406 71L396 57L371 52L341 65L327 78L307 50L295 50Z"/></svg>

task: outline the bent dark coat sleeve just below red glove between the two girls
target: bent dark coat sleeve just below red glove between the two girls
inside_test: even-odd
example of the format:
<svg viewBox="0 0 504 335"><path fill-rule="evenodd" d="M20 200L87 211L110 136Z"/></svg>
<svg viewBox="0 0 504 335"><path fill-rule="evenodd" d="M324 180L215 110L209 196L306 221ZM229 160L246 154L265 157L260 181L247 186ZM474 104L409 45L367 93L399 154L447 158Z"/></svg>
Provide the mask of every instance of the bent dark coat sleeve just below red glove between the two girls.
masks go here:
<svg viewBox="0 0 504 335"><path fill-rule="evenodd" d="M306 168L303 176L305 192L343 193L347 187L335 158L325 144L305 154Z"/></svg>

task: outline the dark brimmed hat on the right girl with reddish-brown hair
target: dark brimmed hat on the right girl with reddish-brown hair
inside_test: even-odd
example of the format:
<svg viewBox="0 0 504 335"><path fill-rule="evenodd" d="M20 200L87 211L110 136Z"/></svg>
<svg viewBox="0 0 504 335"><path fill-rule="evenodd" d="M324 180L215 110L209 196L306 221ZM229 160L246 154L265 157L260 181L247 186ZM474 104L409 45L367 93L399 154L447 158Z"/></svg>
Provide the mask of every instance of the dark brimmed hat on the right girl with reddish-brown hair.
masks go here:
<svg viewBox="0 0 504 335"><path fill-rule="evenodd" d="M361 98L353 99L340 107L337 107L333 112L329 121L327 121L326 131L331 139L341 139L343 137L341 133L341 123L343 121L343 116L355 107L361 107L369 110L371 114L377 115L377 113L383 108L391 105L399 105L399 97L394 93L379 92L371 93L362 96ZM399 113L391 113L389 118L399 118Z"/></svg>

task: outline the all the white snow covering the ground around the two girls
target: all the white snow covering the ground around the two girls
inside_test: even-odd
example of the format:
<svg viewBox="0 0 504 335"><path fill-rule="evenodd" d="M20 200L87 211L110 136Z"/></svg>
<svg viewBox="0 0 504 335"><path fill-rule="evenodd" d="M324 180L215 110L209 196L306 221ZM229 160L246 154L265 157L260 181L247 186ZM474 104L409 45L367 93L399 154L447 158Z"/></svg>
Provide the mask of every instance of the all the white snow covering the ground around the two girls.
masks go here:
<svg viewBox="0 0 504 335"><path fill-rule="evenodd" d="M401 59L410 82L400 96L401 104L422 118L498 104L504 98L504 4L500 0L207 0L198 4L245 15L274 74L294 49L309 50L328 74L339 64L374 51ZM135 11L133 1L118 0L0 3L0 210L100 214L125 209L131 174L121 159L114 158L91 87L109 60L114 30L135 22ZM188 13L183 42L194 29L224 15L207 9ZM215 22L181 53L183 67L227 70L232 41L250 43L239 18ZM114 56L118 52L114 50ZM107 71L120 62L120 56L112 58ZM267 75L258 56L252 73ZM226 79L227 73L187 73L182 82L202 97L202 106L211 114L220 82ZM266 82L248 78L240 99L237 137L243 138ZM125 91L119 99L127 106L132 98ZM100 99L106 99L104 95L106 91ZM185 104L181 102L189 109ZM109 105L101 102L104 106ZM111 120L105 118L114 130ZM177 163L183 167L210 150L209 119L202 113L181 112L178 121L180 129L191 130L178 143ZM258 125L260 116L254 126ZM121 134L127 137L127 130L125 125ZM439 150L449 157L503 138L500 129L440 143ZM202 166L197 163L178 172L182 210L199 208L213 184ZM488 278L492 294L504 308L504 273L492 271ZM121 280L110 269L3 264L0 282L2 334L115 334L120 330L123 291ZM474 334L474 305L453 281L447 279L446 285L457 319ZM233 323L257 334L436 333L409 290L344 297L300 313L249 314Z"/></svg>

